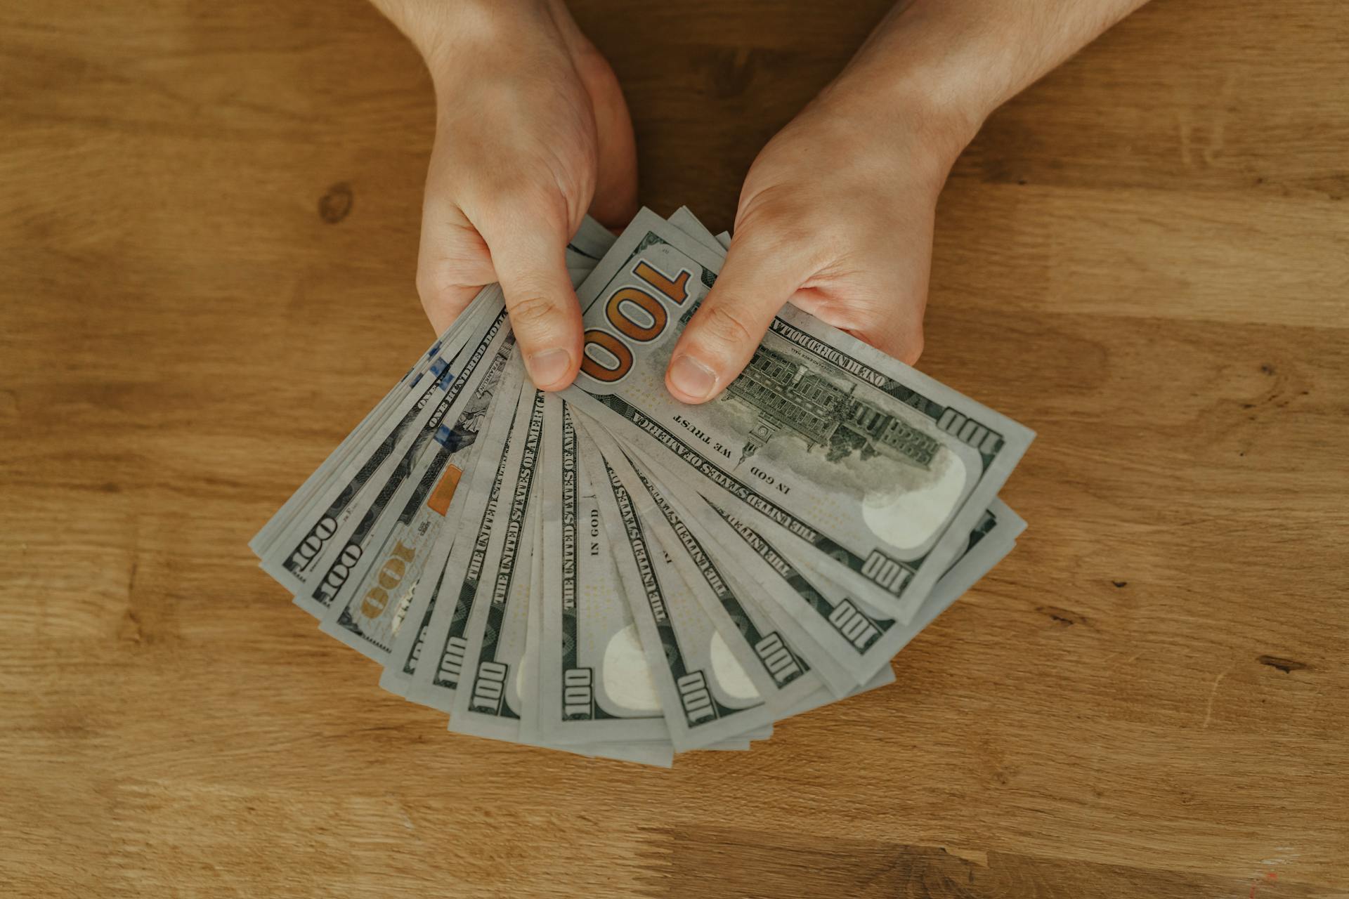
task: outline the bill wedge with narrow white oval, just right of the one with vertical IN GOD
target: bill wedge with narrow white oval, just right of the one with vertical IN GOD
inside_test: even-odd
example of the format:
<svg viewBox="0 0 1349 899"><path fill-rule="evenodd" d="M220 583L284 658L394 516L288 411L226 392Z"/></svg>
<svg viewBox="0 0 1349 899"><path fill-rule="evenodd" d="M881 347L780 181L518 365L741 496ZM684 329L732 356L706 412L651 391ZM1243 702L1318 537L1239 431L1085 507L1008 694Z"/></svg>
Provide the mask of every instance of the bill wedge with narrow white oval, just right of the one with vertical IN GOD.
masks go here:
<svg viewBox="0 0 1349 899"><path fill-rule="evenodd" d="M581 441L661 710L677 752L772 722L772 712L734 656L714 658L711 620L653 543L618 474Z"/></svg>

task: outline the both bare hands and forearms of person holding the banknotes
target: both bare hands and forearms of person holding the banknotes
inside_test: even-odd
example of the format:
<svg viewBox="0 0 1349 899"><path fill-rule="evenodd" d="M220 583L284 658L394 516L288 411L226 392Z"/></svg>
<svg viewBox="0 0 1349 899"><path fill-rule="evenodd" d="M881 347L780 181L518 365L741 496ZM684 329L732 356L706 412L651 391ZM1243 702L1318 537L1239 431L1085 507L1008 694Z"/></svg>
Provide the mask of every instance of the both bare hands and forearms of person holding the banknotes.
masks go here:
<svg viewBox="0 0 1349 899"><path fill-rule="evenodd" d="M581 361L564 247L587 210L637 210L633 125L563 0L374 0L421 51L437 127L417 290L437 332L500 282L534 384ZM983 120L1145 0L911 0L759 152L716 284L670 354L719 395L784 303L913 364L938 195ZM634 15L639 15L634 13Z"/></svg>

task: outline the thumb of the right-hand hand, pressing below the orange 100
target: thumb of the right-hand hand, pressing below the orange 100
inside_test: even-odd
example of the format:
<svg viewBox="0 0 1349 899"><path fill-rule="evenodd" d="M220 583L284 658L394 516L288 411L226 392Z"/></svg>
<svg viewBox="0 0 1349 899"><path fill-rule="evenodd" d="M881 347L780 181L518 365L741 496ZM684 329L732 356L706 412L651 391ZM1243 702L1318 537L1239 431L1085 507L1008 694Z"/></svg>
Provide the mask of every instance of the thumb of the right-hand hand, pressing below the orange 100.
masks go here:
<svg viewBox="0 0 1349 899"><path fill-rule="evenodd" d="M812 274L811 260L781 241L741 229L726 264L670 353L665 387L684 403L704 403L745 368L773 315Z"/></svg>

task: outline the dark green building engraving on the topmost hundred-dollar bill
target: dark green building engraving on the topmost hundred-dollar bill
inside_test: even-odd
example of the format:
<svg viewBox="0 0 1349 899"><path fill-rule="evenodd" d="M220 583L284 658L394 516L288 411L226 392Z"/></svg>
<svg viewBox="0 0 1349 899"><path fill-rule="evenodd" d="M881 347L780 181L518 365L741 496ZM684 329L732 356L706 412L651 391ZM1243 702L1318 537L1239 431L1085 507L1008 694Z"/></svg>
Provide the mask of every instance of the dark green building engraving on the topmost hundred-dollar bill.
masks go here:
<svg viewBox="0 0 1349 899"><path fill-rule="evenodd" d="M805 441L807 450L827 446L831 462L857 452L862 460L884 454L928 468L936 456L936 438L855 398L854 390L843 390L789 356L759 346L741 376L726 387L724 399L737 399L758 412L741 461L786 429Z"/></svg>

